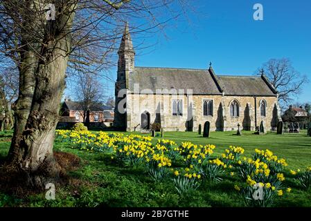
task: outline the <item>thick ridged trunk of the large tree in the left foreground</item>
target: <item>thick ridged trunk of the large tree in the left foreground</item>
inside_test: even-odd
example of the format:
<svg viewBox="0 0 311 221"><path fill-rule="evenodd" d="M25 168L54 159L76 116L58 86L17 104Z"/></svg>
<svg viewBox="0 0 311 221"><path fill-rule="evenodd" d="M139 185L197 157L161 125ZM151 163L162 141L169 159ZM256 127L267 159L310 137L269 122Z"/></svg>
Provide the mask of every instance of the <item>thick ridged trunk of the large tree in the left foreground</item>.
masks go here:
<svg viewBox="0 0 311 221"><path fill-rule="evenodd" d="M73 7L62 8L64 11L60 17L47 24L41 59L34 72L35 81L26 77L31 75L30 70L21 73L21 84L28 83L30 87L20 86L28 93L26 96L22 94L16 104L14 142L9 159L13 166L26 174L26 184L31 186L44 187L48 182L59 180L60 166L53 157L53 142L71 50L69 32Z"/></svg>

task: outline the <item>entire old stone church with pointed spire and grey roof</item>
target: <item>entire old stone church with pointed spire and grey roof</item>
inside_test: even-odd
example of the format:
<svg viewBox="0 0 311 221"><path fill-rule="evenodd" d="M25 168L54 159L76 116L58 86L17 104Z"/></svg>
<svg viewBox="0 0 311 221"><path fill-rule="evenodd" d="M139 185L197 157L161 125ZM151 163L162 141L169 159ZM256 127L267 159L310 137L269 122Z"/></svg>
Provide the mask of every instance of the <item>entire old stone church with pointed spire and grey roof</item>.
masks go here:
<svg viewBox="0 0 311 221"><path fill-rule="evenodd" d="M240 128L267 131L281 120L278 93L261 76L216 75L186 68L136 67L128 26L118 50L114 125L123 131L150 130L157 123L165 131L197 131L211 123L211 131Z"/></svg>

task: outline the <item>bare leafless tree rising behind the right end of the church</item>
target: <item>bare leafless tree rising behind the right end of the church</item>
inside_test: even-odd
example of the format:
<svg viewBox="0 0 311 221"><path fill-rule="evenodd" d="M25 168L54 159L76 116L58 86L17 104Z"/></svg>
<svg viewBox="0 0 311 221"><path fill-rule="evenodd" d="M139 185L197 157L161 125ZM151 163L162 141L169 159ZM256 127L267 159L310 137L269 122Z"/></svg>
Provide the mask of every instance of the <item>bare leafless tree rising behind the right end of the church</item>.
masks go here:
<svg viewBox="0 0 311 221"><path fill-rule="evenodd" d="M293 96L301 93L303 84L308 81L305 75L294 69L290 59L286 58L270 59L258 69L257 74L261 74L262 70L278 91L278 101L283 107L288 106Z"/></svg>

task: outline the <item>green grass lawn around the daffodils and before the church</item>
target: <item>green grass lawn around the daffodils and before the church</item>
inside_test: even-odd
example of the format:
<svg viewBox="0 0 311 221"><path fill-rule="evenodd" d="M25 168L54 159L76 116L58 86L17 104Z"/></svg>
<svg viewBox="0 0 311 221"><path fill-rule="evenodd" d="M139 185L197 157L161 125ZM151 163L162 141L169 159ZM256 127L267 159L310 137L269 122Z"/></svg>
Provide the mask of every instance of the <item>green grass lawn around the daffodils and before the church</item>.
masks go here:
<svg viewBox="0 0 311 221"><path fill-rule="evenodd" d="M184 141L215 144L215 155L230 145L242 146L245 155L254 153L255 148L269 148L284 157L290 169L311 166L311 137L305 132L253 135L243 131L240 137L233 133L212 132L210 138L203 138L197 133L166 132L164 138L177 144ZM158 139L161 137L154 138L154 142ZM9 138L0 133L0 159L6 156L9 146ZM44 193L24 198L0 193L0 206L243 206L240 195L233 189L238 182L236 177L226 176L217 184L202 184L190 195L180 197L170 178L155 183L143 166L121 166L109 155L72 149L64 142L55 142L55 151L73 153L82 159L80 168L69 173L71 182L57 186L56 200L45 200ZM311 206L310 191L303 191L291 178L286 179L285 184L292 188L292 193L279 198L274 206Z"/></svg>

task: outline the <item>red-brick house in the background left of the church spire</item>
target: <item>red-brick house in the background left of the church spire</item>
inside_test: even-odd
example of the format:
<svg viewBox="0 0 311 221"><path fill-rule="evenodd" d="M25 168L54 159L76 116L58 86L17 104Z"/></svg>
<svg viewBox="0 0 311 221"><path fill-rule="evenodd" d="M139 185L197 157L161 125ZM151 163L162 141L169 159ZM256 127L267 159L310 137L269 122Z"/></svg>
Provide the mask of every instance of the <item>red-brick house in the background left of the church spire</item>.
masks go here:
<svg viewBox="0 0 311 221"><path fill-rule="evenodd" d="M85 111L79 102L73 102L71 99L65 99L60 109L60 122L83 122ZM90 107L89 122L104 123L106 126L112 126L114 121L114 107L103 104L93 104Z"/></svg>

